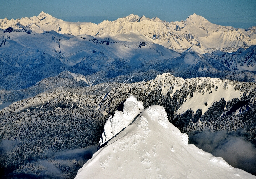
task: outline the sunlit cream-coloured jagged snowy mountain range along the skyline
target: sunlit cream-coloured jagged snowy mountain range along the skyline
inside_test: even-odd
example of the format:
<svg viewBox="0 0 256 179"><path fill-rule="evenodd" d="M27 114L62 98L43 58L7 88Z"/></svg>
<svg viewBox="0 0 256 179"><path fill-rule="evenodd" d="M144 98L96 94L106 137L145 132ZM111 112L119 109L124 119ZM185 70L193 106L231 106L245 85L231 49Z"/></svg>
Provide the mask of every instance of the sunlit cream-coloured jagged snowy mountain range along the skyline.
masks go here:
<svg viewBox="0 0 256 179"><path fill-rule="evenodd" d="M41 12L37 17L0 19L0 28L29 28L34 32L54 30L61 34L92 35L111 37L118 41L140 39L143 42L161 44L176 51L191 49L200 53L216 49L233 52L239 47L248 48L256 45L255 26L248 29L236 29L210 23L202 16L193 14L185 21L166 22L157 17L129 15L115 21L103 21L100 24L91 22L65 22ZM142 42L141 41L141 42Z"/></svg>

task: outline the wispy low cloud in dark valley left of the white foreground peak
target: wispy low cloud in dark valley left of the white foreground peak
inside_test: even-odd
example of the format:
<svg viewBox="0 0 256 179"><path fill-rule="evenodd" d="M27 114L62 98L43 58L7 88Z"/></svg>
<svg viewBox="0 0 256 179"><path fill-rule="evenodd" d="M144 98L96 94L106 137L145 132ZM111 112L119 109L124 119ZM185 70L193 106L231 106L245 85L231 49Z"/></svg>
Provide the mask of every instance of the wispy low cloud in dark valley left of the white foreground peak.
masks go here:
<svg viewBox="0 0 256 179"><path fill-rule="evenodd" d="M6 143L6 142L5 142ZM10 142L7 144L10 144ZM7 145L5 145L7 146ZM97 151L97 145L87 148L65 150L60 153L48 151L44 160L30 161L10 174L16 178L75 178L77 171Z"/></svg>

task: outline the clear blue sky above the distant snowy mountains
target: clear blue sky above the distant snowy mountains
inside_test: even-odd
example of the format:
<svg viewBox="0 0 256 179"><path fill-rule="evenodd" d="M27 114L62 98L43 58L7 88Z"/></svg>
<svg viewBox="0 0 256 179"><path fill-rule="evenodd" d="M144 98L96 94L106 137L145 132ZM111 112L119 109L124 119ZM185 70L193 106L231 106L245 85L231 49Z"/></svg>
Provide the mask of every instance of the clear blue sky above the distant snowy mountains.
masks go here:
<svg viewBox="0 0 256 179"><path fill-rule="evenodd" d="M180 21L196 13L224 26L256 26L256 0L0 0L1 19L32 17L41 11L72 22L100 23L129 14Z"/></svg>

